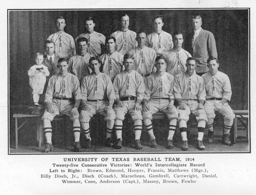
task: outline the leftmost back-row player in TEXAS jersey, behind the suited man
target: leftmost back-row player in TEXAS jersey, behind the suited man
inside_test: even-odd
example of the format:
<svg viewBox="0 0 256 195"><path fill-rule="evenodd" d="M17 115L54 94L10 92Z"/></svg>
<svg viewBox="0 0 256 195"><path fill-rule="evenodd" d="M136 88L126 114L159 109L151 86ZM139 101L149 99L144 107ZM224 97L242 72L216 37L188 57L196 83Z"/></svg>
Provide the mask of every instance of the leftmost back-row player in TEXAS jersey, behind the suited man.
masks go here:
<svg viewBox="0 0 256 195"><path fill-rule="evenodd" d="M56 19L57 31L47 38L47 40L55 43L55 55L58 58L70 58L76 55L74 39L71 35L64 32L65 26L66 19L59 16Z"/></svg>

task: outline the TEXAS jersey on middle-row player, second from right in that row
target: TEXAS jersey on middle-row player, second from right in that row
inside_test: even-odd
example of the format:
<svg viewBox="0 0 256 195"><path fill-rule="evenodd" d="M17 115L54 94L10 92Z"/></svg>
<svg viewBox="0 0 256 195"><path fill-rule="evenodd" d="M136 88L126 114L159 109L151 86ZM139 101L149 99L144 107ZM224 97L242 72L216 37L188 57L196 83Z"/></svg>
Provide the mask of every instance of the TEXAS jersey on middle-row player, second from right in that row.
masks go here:
<svg viewBox="0 0 256 195"><path fill-rule="evenodd" d="M140 74L155 72L156 52L145 46L143 49L136 47L128 52L134 56L134 70Z"/></svg>

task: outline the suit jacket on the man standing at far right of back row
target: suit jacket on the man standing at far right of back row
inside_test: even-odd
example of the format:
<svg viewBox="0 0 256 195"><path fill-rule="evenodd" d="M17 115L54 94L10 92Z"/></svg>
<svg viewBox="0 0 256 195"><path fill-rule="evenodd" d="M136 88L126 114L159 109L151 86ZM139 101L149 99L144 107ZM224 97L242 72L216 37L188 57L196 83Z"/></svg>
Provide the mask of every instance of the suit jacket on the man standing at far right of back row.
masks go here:
<svg viewBox="0 0 256 195"><path fill-rule="evenodd" d="M214 35L210 31L201 29L197 36L194 47L192 48L192 39L194 36L194 31L190 32L185 39L184 48L187 50L194 58L197 59L196 72L208 72L207 59L212 56L218 58L216 42Z"/></svg>

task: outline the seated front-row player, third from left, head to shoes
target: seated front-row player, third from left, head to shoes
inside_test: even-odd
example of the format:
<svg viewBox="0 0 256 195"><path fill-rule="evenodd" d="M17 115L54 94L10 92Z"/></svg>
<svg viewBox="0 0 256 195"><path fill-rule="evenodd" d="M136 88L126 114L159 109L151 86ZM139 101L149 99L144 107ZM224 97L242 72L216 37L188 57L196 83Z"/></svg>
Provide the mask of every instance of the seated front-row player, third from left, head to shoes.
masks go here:
<svg viewBox="0 0 256 195"><path fill-rule="evenodd" d="M134 57L131 54L124 55L123 64L125 70L115 76L113 83L116 97L114 129L117 138L114 148L122 148L123 120L125 114L129 112L134 121L135 148L140 150L143 148L140 143L140 137L142 129L141 102L144 97L144 81L143 77L133 70Z"/></svg>

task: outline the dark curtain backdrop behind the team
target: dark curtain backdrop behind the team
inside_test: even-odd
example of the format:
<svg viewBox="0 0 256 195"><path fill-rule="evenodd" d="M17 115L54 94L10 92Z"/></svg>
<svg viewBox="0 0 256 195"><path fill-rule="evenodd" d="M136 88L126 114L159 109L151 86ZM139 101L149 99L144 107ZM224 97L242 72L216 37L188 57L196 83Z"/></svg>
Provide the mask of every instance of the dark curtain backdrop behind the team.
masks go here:
<svg viewBox="0 0 256 195"><path fill-rule="evenodd" d="M185 36L191 31L191 17L201 15L202 28L215 36L219 70L231 82L233 109L248 109L248 9L217 10L66 10L9 11L9 100L10 106L32 102L29 67L34 54L44 52L44 41L55 32L55 18L67 18L65 32L74 38L85 31L85 19L96 19L95 31L110 35L120 29L120 15L130 17L129 29L152 32L152 19L164 15L163 30L173 35L179 30Z"/></svg>

